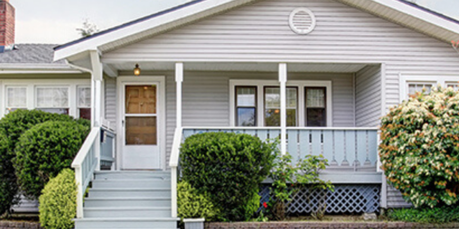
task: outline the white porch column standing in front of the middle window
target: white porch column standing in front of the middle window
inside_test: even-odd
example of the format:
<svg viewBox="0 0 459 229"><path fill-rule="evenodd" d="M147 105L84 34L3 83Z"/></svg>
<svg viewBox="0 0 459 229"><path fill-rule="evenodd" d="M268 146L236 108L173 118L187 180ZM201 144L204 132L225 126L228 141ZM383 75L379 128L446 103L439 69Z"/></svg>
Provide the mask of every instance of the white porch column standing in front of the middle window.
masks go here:
<svg viewBox="0 0 459 229"><path fill-rule="evenodd" d="M287 153L287 64L279 64L279 82L281 83L281 154Z"/></svg>

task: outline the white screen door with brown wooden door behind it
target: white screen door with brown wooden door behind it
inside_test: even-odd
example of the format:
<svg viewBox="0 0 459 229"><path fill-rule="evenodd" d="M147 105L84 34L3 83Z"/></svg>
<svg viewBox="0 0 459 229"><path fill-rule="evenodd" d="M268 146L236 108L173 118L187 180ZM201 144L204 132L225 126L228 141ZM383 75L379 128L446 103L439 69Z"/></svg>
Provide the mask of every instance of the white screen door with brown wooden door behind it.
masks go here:
<svg viewBox="0 0 459 229"><path fill-rule="evenodd" d="M158 120L158 85L124 85L124 169L160 169Z"/></svg>

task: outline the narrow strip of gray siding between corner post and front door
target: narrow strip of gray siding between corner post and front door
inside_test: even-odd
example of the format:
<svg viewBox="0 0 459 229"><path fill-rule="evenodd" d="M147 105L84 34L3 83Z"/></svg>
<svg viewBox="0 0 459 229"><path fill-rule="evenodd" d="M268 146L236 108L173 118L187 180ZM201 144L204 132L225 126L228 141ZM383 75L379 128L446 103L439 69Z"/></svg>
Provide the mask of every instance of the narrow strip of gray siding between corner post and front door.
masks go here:
<svg viewBox="0 0 459 229"><path fill-rule="evenodd" d="M106 77L105 82L105 119L116 130L116 78Z"/></svg>

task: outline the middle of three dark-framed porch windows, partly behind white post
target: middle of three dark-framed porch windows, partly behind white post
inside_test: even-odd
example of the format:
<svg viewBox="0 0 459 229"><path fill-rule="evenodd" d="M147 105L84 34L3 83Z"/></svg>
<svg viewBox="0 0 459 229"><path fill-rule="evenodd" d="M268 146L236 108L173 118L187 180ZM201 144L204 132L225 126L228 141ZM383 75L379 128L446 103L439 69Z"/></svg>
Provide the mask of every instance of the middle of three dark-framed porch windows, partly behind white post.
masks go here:
<svg viewBox="0 0 459 229"><path fill-rule="evenodd" d="M287 126L296 126L298 89L289 87L287 93ZM265 126L281 126L281 89L265 87Z"/></svg>

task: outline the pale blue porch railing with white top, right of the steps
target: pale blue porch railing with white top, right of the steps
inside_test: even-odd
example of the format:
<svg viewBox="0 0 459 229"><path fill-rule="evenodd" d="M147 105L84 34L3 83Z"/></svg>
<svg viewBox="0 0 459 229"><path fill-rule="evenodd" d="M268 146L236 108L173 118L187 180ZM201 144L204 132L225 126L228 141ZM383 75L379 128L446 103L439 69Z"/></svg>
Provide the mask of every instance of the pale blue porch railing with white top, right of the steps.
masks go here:
<svg viewBox="0 0 459 229"><path fill-rule="evenodd" d="M172 175L172 217L176 217L176 179L179 166L180 144L187 137L205 132L234 132L258 136L261 140L279 138L278 127L186 127L177 128L174 134L169 166ZM297 162L306 155L323 155L328 160L327 172L336 172L333 178L346 180L361 179L371 175L366 181L354 182L379 183L377 156L377 128L370 127L289 127L287 128L287 152ZM369 172L369 173L365 173ZM351 173L348 178L341 173ZM336 175L337 174L337 175ZM376 174L376 175L375 175ZM364 175L364 176L360 176ZM327 178L330 178L328 175ZM336 180L336 179L335 179ZM175 214L175 215L174 215Z"/></svg>

